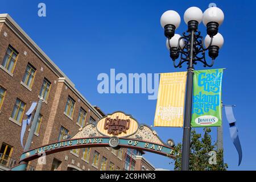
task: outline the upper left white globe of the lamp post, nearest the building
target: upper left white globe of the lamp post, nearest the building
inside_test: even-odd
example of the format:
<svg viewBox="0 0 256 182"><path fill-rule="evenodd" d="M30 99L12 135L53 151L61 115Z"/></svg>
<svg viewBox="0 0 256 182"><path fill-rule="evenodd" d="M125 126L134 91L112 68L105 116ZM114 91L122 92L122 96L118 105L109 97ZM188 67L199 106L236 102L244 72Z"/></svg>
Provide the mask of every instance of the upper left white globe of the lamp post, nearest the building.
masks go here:
<svg viewBox="0 0 256 182"><path fill-rule="evenodd" d="M173 24L177 29L180 26L180 15L176 11L168 10L161 16L160 23L163 28L167 24Z"/></svg>

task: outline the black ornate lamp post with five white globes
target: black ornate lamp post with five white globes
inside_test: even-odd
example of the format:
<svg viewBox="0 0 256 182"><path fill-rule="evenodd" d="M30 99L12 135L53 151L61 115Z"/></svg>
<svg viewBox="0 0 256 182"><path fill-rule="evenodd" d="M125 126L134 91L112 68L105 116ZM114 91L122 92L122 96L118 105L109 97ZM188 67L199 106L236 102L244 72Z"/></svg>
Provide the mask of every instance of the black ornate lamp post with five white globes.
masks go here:
<svg viewBox="0 0 256 182"><path fill-rule="evenodd" d="M198 31L198 25L202 20L207 27L208 35L205 39ZM188 65L181 158L181 170L183 171L189 170L194 64L201 62L204 67L213 66L214 60L218 56L218 50L224 43L222 35L218 33L218 26L223 20L224 13L218 7L209 7L204 13L198 7L189 7L184 13L184 21L188 25L188 30L183 33L183 36L175 34L175 30L180 25L180 15L176 11L166 11L160 20L164 28L164 35L167 37L166 44L167 48L170 49L170 57L174 62L174 67L181 68L183 63ZM206 51L211 58L210 64L205 59ZM176 63L177 59L179 61Z"/></svg>

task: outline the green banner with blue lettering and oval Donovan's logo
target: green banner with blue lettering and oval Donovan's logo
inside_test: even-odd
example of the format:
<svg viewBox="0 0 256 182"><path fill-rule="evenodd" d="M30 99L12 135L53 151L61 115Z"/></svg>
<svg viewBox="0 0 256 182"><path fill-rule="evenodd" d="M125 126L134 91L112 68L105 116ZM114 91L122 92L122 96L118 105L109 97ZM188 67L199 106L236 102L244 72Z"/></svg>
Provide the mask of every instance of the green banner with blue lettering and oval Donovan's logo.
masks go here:
<svg viewBox="0 0 256 182"><path fill-rule="evenodd" d="M222 75L223 69L194 72L192 127L221 126Z"/></svg>

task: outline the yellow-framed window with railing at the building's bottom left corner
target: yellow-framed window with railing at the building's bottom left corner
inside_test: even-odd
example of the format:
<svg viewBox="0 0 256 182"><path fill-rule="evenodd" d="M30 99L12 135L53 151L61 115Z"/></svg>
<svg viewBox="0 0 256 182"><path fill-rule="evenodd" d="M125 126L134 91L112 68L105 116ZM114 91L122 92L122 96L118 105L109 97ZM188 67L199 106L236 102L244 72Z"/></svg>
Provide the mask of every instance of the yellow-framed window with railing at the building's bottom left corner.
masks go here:
<svg viewBox="0 0 256 182"><path fill-rule="evenodd" d="M10 167L15 164L15 160L10 158L11 153L13 152L13 147L9 144L2 143L0 149L0 165Z"/></svg>

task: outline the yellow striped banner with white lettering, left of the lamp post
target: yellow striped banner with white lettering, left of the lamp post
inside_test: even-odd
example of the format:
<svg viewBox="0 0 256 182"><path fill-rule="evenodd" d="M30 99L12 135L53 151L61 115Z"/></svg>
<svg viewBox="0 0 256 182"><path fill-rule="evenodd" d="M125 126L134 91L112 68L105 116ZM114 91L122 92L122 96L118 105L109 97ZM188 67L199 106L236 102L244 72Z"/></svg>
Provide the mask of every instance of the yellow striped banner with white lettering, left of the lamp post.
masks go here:
<svg viewBox="0 0 256 182"><path fill-rule="evenodd" d="M154 126L183 127L187 72L161 73Z"/></svg>

